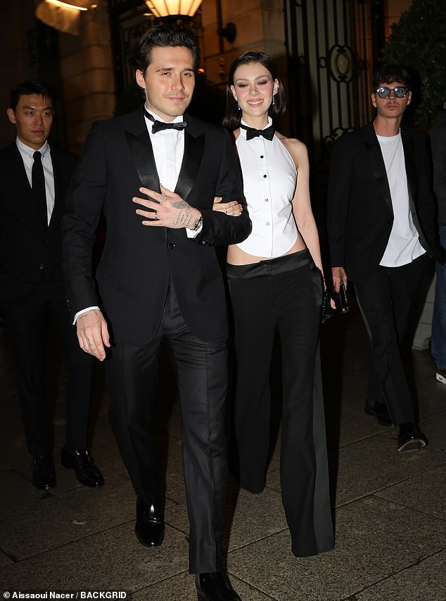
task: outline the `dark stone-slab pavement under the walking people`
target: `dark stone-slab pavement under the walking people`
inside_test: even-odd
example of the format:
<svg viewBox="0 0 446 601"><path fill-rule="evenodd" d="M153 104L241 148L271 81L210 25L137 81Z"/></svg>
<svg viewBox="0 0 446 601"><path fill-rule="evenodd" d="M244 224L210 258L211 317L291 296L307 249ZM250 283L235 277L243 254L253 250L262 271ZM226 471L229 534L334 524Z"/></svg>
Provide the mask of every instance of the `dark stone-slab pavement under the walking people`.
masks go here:
<svg viewBox="0 0 446 601"><path fill-rule="evenodd" d="M229 478L224 556L243 601L446 601L446 385L435 381L428 351L411 352L409 381L429 445L398 454L394 428L364 413L369 346L354 299L350 306L321 333L336 546L316 557L291 553L277 442L260 495ZM272 367L273 441L279 354ZM103 365L91 407L91 451L106 484L91 489L60 466L66 372L51 329L48 355L57 483L42 491L30 481L11 346L0 327L0 598L99 599L113 598L106 595L113 591L114 598L133 601L196 601L188 573L179 406L167 360L155 428L166 532L163 545L149 550L134 535L135 495L108 422Z"/></svg>

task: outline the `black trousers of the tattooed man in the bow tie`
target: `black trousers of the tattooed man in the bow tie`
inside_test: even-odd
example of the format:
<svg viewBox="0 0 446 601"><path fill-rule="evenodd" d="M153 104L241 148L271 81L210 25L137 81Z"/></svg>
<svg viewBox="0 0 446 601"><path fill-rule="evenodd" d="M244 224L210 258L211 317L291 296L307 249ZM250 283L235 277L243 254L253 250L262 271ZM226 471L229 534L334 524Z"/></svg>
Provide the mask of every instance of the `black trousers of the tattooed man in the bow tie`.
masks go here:
<svg viewBox="0 0 446 601"><path fill-rule="evenodd" d="M172 285L155 338L144 347L117 345L107 361L110 421L136 495L159 507L162 498L151 427L163 342L172 357L181 405L189 571L220 571L227 482L227 341L203 342L193 335Z"/></svg>

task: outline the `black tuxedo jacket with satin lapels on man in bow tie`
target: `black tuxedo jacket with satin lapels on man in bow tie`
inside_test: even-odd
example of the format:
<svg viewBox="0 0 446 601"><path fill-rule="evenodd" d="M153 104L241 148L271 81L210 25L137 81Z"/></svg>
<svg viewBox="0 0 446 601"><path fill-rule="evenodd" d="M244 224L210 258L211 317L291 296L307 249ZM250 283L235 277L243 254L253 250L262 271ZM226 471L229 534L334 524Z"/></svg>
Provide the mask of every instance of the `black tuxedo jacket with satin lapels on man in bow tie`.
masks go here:
<svg viewBox="0 0 446 601"><path fill-rule="evenodd" d="M184 229L141 225L132 197L139 187L160 190L143 115L95 123L84 145L63 218L64 273L72 314L101 306L115 342L144 345L158 328L167 287L172 284L181 314L200 340L227 336L224 283L216 245L244 240L250 219L241 174L227 132L186 115L184 159L175 192L203 214L203 229L189 239ZM212 211L215 196L237 199L241 217ZM101 211L106 242L91 277L91 244Z"/></svg>

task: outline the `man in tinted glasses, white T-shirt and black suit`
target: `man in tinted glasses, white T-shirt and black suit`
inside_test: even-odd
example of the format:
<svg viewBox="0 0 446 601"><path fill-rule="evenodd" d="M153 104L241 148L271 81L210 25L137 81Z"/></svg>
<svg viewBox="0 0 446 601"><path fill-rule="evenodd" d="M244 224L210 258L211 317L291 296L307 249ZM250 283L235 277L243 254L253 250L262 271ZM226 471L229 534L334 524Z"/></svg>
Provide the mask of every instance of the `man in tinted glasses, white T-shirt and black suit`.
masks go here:
<svg viewBox="0 0 446 601"><path fill-rule="evenodd" d="M341 137L329 176L333 289L347 278L371 342L366 411L397 426L397 450L427 444L415 424L400 343L429 256L442 261L426 138L402 125L409 72L383 66L374 78L372 123Z"/></svg>

